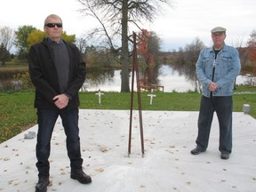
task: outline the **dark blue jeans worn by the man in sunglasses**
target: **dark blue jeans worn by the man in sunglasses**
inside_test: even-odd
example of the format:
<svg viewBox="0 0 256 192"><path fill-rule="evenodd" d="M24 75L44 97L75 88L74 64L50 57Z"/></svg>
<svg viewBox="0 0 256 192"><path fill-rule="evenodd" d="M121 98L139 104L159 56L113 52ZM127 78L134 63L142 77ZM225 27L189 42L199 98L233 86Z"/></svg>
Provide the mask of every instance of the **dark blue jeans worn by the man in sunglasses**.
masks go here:
<svg viewBox="0 0 256 192"><path fill-rule="evenodd" d="M36 143L36 167L38 177L49 177L52 131L58 116L61 117L67 140L68 157L70 159L71 172L82 170L83 159L80 151L80 138L78 128L78 108L70 110L37 109L37 143Z"/></svg>

